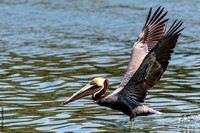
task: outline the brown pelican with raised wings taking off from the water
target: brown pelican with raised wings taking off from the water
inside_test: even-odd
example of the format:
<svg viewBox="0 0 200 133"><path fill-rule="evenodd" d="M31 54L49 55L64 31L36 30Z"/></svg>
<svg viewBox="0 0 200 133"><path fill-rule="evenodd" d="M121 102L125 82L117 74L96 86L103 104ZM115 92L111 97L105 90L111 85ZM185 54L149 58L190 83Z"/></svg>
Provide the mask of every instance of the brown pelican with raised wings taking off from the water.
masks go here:
<svg viewBox="0 0 200 133"><path fill-rule="evenodd" d="M103 95L108 88L108 79L97 77L72 95L63 105L92 95L92 99L101 106L120 110L134 121L137 116L162 114L159 111L142 105L148 90L161 78L169 64L171 54L181 35L182 21L175 20L166 31L169 19L167 12L159 7L152 15L152 8L137 41L133 45L132 54L125 75L119 87L108 95Z"/></svg>

